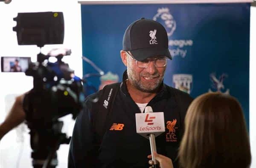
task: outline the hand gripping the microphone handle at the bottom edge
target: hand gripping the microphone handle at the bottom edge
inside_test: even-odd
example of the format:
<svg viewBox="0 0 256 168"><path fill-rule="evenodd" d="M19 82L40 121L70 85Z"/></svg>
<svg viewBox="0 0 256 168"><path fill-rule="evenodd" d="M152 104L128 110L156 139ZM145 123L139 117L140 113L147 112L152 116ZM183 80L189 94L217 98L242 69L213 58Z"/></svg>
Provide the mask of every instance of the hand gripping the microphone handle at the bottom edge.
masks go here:
<svg viewBox="0 0 256 168"><path fill-rule="evenodd" d="M173 168L172 160L169 157L157 154L157 152L154 152L154 157L159 162L160 168ZM152 156L148 155L148 159L152 159ZM154 162L153 160L149 160L148 163L153 165Z"/></svg>

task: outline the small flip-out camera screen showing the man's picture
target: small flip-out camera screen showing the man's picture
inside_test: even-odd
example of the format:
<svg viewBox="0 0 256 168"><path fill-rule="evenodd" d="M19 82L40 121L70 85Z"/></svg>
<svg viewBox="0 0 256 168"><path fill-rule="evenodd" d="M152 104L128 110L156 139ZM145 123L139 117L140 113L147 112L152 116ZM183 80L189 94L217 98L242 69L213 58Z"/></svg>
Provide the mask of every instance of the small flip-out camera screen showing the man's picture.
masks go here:
<svg viewBox="0 0 256 168"><path fill-rule="evenodd" d="M1 57L2 72L25 72L31 62L30 57Z"/></svg>

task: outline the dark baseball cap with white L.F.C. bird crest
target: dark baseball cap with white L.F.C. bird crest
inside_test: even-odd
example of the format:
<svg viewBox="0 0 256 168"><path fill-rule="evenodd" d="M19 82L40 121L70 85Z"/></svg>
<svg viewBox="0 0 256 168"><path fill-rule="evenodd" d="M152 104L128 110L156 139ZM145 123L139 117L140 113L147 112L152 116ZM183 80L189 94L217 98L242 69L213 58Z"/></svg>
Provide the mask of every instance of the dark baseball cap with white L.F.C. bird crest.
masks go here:
<svg viewBox="0 0 256 168"><path fill-rule="evenodd" d="M123 50L130 51L138 61L152 56L172 59L166 29L159 22L145 18L128 26L123 37Z"/></svg>

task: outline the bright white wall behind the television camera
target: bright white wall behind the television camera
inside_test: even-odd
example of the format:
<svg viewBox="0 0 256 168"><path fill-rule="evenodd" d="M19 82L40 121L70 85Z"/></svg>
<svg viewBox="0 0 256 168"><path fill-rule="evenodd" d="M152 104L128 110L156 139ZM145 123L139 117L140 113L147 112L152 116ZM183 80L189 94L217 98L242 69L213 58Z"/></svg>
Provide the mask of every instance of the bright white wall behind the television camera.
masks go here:
<svg viewBox="0 0 256 168"><path fill-rule="evenodd" d="M81 8L76 0L12 0L10 4L0 2L0 56L29 56L36 59L39 48L35 45L17 45L16 32L12 27L18 12L62 11L65 22L63 45L46 45L42 53L46 54L52 48L70 48L71 56L66 56L64 62L75 70L76 76L82 77L82 45L81 45ZM30 90L33 87L32 77L24 73L0 73L0 123L3 122L14 96ZM62 131L72 134L74 121L71 116L63 118ZM0 168L29 168L31 165L31 149L29 130L21 124L0 141ZM68 145L61 145L58 150L58 168L67 167ZM30 166L32 167L32 166Z"/></svg>

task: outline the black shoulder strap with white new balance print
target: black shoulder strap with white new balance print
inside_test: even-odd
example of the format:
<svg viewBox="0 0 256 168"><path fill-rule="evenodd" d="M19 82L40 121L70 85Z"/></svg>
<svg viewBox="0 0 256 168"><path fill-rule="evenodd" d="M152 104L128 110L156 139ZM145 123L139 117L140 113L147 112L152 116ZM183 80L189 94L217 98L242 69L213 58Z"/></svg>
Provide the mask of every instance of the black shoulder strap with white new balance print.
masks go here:
<svg viewBox="0 0 256 168"><path fill-rule="evenodd" d="M102 95L99 97L97 123L95 123L96 133L102 139L106 130L109 128L108 121L112 116L113 103L119 90L120 83L106 85L102 89Z"/></svg>

